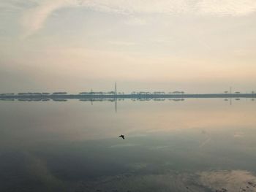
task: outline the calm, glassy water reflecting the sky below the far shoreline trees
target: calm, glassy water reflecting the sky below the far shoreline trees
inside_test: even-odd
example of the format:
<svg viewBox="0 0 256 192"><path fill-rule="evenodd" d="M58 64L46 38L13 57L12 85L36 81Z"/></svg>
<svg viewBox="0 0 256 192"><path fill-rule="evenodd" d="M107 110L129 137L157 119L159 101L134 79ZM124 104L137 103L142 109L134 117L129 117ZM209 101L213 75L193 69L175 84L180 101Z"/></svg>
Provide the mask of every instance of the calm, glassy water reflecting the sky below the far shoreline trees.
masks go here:
<svg viewBox="0 0 256 192"><path fill-rule="evenodd" d="M0 101L0 120L0 191L256 191L251 99Z"/></svg>

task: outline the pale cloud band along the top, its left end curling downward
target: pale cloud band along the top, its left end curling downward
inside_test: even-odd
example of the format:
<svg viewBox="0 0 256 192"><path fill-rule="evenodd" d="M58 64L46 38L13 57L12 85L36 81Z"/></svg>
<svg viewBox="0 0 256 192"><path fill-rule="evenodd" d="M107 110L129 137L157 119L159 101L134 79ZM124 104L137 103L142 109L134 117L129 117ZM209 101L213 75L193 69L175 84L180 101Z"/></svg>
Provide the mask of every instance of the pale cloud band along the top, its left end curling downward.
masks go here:
<svg viewBox="0 0 256 192"><path fill-rule="evenodd" d="M42 28L49 15L63 7L83 6L100 12L129 15L160 13L243 16L256 10L255 0L37 0L36 2L36 6L24 10L21 19L25 37ZM139 18L131 22L144 24Z"/></svg>

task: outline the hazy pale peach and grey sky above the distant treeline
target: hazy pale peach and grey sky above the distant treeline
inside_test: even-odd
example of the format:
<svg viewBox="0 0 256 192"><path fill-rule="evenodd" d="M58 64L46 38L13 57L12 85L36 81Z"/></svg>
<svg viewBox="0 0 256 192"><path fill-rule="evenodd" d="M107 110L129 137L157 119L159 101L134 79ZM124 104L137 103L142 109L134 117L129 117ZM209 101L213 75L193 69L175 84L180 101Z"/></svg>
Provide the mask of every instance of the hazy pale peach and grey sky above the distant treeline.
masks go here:
<svg viewBox="0 0 256 192"><path fill-rule="evenodd" d="M0 92L256 91L255 0L0 0Z"/></svg>

